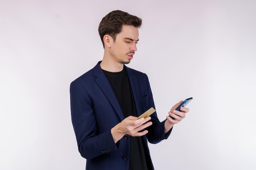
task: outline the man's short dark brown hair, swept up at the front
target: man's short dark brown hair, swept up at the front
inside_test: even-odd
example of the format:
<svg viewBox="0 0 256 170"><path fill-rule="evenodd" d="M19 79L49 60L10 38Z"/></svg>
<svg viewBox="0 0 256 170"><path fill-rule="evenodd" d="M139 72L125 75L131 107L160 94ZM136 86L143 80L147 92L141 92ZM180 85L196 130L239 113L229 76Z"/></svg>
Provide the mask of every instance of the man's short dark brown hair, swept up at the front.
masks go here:
<svg viewBox="0 0 256 170"><path fill-rule="evenodd" d="M121 32L122 25L132 25L136 28L141 26L141 18L130 15L127 12L116 10L108 13L104 18L102 18L99 24L99 36L104 48L104 35L110 35L114 41L116 40L116 35Z"/></svg>

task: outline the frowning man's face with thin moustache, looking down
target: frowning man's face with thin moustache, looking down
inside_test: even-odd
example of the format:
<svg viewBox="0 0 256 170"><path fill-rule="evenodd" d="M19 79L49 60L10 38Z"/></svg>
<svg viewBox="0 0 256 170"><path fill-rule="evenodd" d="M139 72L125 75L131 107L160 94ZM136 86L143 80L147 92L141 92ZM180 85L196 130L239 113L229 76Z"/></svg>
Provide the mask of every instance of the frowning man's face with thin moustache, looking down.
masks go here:
<svg viewBox="0 0 256 170"><path fill-rule="evenodd" d="M110 47L110 55L115 62L128 64L137 51L139 29L131 25L123 25L120 33L116 35L115 42Z"/></svg>

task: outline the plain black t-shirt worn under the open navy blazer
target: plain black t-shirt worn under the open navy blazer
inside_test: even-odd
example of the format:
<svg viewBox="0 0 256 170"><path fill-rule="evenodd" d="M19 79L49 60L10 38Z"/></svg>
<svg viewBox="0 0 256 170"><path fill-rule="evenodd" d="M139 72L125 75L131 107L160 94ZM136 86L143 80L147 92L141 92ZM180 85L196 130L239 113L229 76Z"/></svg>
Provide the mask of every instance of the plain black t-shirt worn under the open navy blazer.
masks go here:
<svg viewBox="0 0 256 170"><path fill-rule="evenodd" d="M136 116L136 107L130 86L130 81L126 73L123 71L112 73L103 70L112 89L117 97L121 106L124 117ZM142 137L130 137L130 155L129 155L129 170L152 170L150 158L147 148L142 141Z"/></svg>

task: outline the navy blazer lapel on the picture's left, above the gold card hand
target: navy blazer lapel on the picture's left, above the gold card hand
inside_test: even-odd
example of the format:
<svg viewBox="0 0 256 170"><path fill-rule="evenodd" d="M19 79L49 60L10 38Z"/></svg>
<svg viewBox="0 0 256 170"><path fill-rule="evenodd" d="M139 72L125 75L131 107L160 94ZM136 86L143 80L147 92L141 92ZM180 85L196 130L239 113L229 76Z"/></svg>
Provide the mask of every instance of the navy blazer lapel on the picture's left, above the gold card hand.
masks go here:
<svg viewBox="0 0 256 170"><path fill-rule="evenodd" d="M115 93L114 93L110 83L108 82L108 79L107 79L106 75L101 70L101 67L100 67L99 64L100 64L100 62L93 68L93 75L95 77L97 77L95 79L95 82L100 86L100 88L102 89L103 93L108 98L109 102L115 108L115 111L117 112L117 115L119 116L119 118L121 120L123 120L124 119L124 114L123 114L123 112L121 110L121 107L119 105L117 97L116 97L116 95L115 95Z"/></svg>

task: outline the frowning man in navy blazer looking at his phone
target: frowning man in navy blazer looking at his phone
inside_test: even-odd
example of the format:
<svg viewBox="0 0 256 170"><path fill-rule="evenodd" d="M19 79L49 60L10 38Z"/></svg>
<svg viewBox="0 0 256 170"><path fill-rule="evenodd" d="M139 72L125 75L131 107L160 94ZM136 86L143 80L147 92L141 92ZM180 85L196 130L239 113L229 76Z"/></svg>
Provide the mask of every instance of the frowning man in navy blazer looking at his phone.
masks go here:
<svg viewBox="0 0 256 170"><path fill-rule="evenodd" d="M71 115L87 170L153 170L147 140L167 139L188 108L174 110L160 122L146 74L128 68L137 51L141 18L123 11L108 13L99 24L103 60L70 85ZM171 119L169 115L175 119Z"/></svg>

